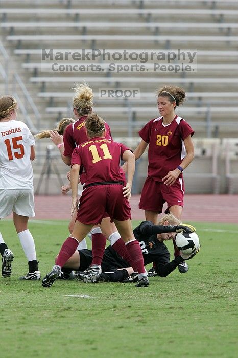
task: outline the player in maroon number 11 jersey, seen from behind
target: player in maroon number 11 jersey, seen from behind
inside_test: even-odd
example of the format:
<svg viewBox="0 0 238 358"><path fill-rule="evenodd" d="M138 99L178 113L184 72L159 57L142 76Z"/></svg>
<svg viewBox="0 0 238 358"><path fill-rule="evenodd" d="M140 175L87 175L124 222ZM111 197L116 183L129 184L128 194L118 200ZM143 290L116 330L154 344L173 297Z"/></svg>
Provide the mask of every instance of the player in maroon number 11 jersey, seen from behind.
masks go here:
<svg viewBox="0 0 238 358"><path fill-rule="evenodd" d="M134 238L128 200L131 196L135 169L134 154L123 144L105 138L105 123L96 114L88 116L85 123L89 140L76 148L72 155L70 182L72 186L72 214L78 210L78 175L82 167L86 172L86 185L72 234L63 243L56 265L42 280L43 287L50 287L60 275L61 267L74 254L78 243L94 224L100 223L107 211L121 233L127 250L138 269L137 287L147 287L140 245ZM127 183L120 174L120 161L128 163Z"/></svg>

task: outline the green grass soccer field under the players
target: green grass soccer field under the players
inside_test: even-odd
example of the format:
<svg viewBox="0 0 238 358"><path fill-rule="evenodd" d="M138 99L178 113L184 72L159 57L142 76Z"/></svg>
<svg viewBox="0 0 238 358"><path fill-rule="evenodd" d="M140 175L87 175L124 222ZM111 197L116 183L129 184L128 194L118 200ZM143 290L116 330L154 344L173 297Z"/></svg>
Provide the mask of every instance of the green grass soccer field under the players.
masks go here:
<svg viewBox="0 0 238 358"><path fill-rule="evenodd" d="M15 256L11 278L0 278L1 356L236 357L238 225L193 225L201 250L187 274L150 278L148 288L75 280L43 288L18 280L27 260L12 221L1 220ZM67 222L31 222L29 229L43 277L68 236Z"/></svg>

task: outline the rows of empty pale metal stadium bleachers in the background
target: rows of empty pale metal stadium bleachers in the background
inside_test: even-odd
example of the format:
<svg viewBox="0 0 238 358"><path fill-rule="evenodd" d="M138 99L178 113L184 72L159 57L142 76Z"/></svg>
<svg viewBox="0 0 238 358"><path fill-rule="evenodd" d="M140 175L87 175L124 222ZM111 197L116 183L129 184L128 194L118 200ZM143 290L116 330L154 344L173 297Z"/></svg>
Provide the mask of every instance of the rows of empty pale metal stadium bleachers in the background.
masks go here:
<svg viewBox="0 0 238 358"><path fill-rule="evenodd" d="M12 60L10 75L17 71L23 78L41 114L42 129L54 126L61 116L73 115L71 88L86 80L95 93L95 109L110 124L114 136L136 138L138 129L158 116L156 89L172 84L186 91L187 100L177 110L197 136L238 137L236 0L183 0L177 1L176 7L172 0L22 0L20 7L16 0L1 0L0 5L2 41ZM130 53L191 49L197 57L191 65L194 71L178 73L154 71L153 59L146 61L146 71L120 73L110 71L110 64L131 66L139 61L103 60L102 56L76 61L79 66L100 65L96 73L91 69L54 72L54 62L41 60L41 49L75 53L92 48L106 49L111 56L124 49ZM177 57L173 63L180 64ZM69 69L74 64L72 60L59 61ZM160 65L164 64L166 59L161 59ZM100 97L101 88L139 89L139 100L107 101ZM216 178L222 173L212 171L209 175L213 184L208 190L217 192ZM221 183L220 190L225 190Z"/></svg>

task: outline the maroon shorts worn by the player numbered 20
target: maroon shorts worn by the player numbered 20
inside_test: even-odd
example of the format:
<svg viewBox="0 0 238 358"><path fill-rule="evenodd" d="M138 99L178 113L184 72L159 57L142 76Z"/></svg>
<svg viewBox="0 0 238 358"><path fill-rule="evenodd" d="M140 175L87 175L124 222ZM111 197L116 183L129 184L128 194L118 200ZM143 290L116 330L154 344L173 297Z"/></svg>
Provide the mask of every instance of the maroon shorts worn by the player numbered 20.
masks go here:
<svg viewBox="0 0 238 358"><path fill-rule="evenodd" d="M161 213L163 204L167 203L165 213L168 213L168 209L172 205L183 207L183 196L183 178L178 178L173 185L167 186L162 182L154 181L148 176L141 192L139 209Z"/></svg>

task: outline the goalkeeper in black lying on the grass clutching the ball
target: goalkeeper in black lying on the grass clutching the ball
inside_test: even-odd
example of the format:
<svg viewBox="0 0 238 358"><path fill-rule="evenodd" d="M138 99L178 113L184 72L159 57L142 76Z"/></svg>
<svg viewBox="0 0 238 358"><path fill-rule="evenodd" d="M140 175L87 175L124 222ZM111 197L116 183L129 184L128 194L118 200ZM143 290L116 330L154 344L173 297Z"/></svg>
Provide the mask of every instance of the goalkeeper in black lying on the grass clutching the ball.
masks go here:
<svg viewBox="0 0 238 358"><path fill-rule="evenodd" d="M197 250L190 255L181 254L182 256L177 256L170 262L170 252L164 241L173 239L181 231L191 233L195 228L181 224L173 214L165 215L160 225L153 225L151 221L142 221L133 230L135 238L139 241L145 266L154 263L158 276L168 276L181 262L192 258L198 252ZM129 263L119 256L111 245L105 249L101 274L83 273L85 267L90 266L91 260L91 250L77 250L63 267L62 278L66 278L70 271L76 270L75 278L85 282L136 282L138 279L137 273L133 272Z"/></svg>

